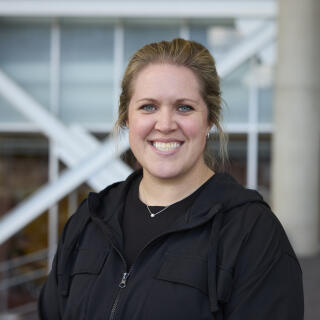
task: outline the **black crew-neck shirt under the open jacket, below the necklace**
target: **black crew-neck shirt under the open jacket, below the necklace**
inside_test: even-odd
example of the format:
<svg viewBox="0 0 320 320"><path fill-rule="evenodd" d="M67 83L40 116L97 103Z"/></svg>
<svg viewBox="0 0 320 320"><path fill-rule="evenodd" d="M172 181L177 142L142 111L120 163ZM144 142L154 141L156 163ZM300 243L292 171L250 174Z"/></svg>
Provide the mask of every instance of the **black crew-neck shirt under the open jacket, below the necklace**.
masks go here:
<svg viewBox="0 0 320 320"><path fill-rule="evenodd" d="M124 256L129 266L134 263L139 252L148 242L164 233L176 219L186 213L198 194L213 177L191 195L172 204L153 218L150 217L147 206L139 199L139 185L142 177L133 181L122 217ZM152 213L157 213L164 207L149 206L149 208Z"/></svg>

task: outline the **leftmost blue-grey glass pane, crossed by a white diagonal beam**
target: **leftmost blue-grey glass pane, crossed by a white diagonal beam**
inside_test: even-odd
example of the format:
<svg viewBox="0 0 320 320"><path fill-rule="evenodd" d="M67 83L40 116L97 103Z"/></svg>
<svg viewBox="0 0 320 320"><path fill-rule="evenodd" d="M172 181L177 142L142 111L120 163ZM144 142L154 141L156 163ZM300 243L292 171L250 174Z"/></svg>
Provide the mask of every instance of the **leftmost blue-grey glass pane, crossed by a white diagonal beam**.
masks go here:
<svg viewBox="0 0 320 320"><path fill-rule="evenodd" d="M49 23L0 23L1 70L45 108L50 105L50 32ZM1 95L0 108L0 123L26 121Z"/></svg>

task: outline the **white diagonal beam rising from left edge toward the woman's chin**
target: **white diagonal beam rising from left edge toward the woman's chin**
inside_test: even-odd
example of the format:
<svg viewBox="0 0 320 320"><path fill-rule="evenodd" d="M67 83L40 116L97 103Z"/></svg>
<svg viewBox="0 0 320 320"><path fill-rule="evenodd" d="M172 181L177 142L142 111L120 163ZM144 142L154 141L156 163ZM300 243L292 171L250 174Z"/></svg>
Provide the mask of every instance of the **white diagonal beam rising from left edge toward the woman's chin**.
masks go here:
<svg viewBox="0 0 320 320"><path fill-rule="evenodd" d="M101 144L98 150L82 159L75 167L65 170L55 182L48 183L40 188L27 200L9 211L0 220L0 244L78 187L102 168L105 163L112 161L117 156L116 153L110 153L109 151L113 143L111 139L108 139ZM126 149L127 139L119 140L118 153Z"/></svg>

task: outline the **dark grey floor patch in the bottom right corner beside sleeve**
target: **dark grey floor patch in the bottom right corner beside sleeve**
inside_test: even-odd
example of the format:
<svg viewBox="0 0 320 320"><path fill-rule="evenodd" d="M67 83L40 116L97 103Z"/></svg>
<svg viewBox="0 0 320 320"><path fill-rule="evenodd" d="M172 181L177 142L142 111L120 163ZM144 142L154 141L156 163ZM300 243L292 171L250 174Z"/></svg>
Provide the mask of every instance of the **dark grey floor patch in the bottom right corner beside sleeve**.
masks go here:
<svg viewBox="0 0 320 320"><path fill-rule="evenodd" d="M303 271L304 320L320 319L320 254L299 259Z"/></svg>

